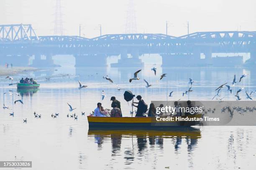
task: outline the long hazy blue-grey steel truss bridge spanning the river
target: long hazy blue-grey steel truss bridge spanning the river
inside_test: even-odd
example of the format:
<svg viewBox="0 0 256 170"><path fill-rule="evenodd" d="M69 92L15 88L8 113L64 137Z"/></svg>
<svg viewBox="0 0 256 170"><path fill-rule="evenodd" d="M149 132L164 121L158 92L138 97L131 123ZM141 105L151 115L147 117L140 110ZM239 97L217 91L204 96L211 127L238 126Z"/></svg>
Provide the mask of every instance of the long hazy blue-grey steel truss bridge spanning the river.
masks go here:
<svg viewBox="0 0 256 170"><path fill-rule="evenodd" d="M38 36L31 24L0 25L0 55L120 55L251 52L256 54L256 31L164 34ZM256 56L255 56L256 57Z"/></svg>

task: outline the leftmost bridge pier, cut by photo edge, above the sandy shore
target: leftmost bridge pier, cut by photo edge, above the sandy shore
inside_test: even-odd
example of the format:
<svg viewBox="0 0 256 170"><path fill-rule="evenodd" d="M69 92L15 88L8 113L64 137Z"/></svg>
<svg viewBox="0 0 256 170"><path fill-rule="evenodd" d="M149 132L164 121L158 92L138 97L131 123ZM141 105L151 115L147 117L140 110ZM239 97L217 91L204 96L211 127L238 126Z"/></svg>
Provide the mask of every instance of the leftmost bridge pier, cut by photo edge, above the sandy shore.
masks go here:
<svg viewBox="0 0 256 170"><path fill-rule="evenodd" d="M13 66L28 66L29 56L28 55L1 55L0 65L5 65L5 63L13 64Z"/></svg>

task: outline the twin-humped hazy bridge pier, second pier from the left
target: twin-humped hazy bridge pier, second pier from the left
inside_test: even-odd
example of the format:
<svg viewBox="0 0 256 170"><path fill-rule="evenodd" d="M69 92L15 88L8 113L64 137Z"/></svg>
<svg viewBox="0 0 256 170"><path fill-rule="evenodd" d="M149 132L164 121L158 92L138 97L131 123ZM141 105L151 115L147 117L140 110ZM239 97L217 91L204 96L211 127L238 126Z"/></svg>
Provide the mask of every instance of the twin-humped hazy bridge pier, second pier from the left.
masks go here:
<svg viewBox="0 0 256 170"><path fill-rule="evenodd" d="M54 64L51 54L46 54L45 59L41 58L41 54L35 54L35 59L32 61L32 67L57 67Z"/></svg>

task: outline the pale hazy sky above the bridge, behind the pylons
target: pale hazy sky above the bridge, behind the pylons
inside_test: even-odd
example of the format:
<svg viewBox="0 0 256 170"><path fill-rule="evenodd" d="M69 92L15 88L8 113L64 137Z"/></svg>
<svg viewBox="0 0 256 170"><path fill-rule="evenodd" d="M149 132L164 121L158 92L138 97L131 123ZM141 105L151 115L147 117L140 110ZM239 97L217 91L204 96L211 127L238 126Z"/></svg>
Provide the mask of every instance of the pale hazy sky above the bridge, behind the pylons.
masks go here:
<svg viewBox="0 0 256 170"><path fill-rule="evenodd" d="M125 32L129 0L62 0L64 34L99 36ZM0 24L31 23L38 35L53 35L55 0L0 0ZM168 34L256 30L256 0L134 0L138 33Z"/></svg>

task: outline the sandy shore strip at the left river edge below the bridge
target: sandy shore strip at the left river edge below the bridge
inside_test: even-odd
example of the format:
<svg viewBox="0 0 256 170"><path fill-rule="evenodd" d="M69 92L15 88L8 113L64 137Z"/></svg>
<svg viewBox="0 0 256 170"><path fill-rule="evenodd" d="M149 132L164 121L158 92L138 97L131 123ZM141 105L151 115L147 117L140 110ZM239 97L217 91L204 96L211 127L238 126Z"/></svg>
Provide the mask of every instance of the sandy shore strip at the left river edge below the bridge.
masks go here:
<svg viewBox="0 0 256 170"><path fill-rule="evenodd" d="M38 70L35 67L9 67L6 68L4 66L0 66L0 76L3 75L15 75L15 74L19 74L19 73L23 73L23 72L28 72L28 71L35 71Z"/></svg>

